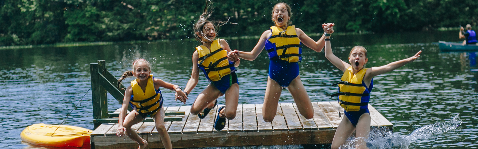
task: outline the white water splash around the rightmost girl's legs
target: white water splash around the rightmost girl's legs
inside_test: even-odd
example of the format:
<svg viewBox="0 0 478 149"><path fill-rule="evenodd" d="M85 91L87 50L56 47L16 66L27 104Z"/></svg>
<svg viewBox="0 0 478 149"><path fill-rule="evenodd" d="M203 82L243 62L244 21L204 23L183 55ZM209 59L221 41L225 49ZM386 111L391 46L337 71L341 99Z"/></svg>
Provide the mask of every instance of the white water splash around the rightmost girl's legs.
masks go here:
<svg viewBox="0 0 478 149"><path fill-rule="evenodd" d="M370 130L370 136L367 139L367 147L370 149L414 148L413 143L415 142L432 140L444 136L445 133L453 133L460 127L461 123L462 121L459 120L456 115L449 121L436 122L417 128L413 130L410 135L393 135L388 129L372 128ZM339 149L355 149L359 139L360 138L350 137L346 144L342 145Z"/></svg>

